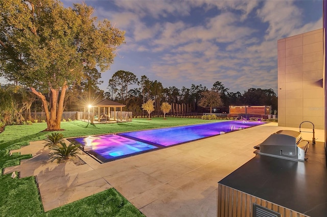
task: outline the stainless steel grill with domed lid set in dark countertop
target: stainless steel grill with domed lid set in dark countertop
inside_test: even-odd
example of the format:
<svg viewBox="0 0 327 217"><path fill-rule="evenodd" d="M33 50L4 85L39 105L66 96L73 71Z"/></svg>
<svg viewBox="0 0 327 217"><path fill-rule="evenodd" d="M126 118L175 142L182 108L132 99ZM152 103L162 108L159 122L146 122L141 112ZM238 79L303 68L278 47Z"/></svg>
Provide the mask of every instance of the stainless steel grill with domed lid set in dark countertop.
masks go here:
<svg viewBox="0 0 327 217"><path fill-rule="evenodd" d="M273 157L305 161L309 142L302 140L301 133L293 130L279 130L263 143L254 146L256 153Z"/></svg>

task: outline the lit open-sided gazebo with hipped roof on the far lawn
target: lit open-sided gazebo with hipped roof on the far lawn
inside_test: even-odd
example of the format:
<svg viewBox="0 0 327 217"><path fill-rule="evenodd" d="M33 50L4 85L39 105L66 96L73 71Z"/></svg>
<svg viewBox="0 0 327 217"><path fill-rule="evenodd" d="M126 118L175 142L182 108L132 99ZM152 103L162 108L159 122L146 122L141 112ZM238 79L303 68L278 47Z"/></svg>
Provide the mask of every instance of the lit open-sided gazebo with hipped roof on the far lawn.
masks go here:
<svg viewBox="0 0 327 217"><path fill-rule="evenodd" d="M125 107L125 106L126 105L124 105L124 104L121 104L119 102L114 102L109 99L101 100L96 105L92 105L92 107L98 107L98 122L101 122L101 119L105 118L105 117L101 117L101 115L106 116L105 119L113 118L114 121L117 121L118 117L116 117L116 108L120 108L120 112L122 113L123 107ZM108 109L106 109L106 108L108 108ZM113 117L110 116L110 108L113 108L113 111L114 111ZM120 117L122 117L122 115Z"/></svg>

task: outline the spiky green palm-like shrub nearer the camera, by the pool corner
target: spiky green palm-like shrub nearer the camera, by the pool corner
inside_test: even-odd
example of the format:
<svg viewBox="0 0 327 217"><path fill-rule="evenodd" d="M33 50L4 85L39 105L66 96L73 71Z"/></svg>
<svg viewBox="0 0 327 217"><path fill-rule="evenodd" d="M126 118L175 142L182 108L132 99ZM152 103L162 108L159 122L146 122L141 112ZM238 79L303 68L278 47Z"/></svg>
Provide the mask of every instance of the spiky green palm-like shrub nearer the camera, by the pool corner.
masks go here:
<svg viewBox="0 0 327 217"><path fill-rule="evenodd" d="M51 162L57 160L58 164L71 156L75 157L80 147L80 145L75 145L74 143L70 143L68 146L64 142L59 142L59 144L52 148L54 152L51 153Z"/></svg>

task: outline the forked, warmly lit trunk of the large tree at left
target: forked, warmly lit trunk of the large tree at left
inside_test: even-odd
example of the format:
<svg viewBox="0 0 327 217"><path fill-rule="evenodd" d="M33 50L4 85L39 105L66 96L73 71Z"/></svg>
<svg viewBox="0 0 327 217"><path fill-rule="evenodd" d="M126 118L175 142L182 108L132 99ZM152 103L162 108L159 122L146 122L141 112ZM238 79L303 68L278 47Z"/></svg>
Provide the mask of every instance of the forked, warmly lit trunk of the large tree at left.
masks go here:
<svg viewBox="0 0 327 217"><path fill-rule="evenodd" d="M57 90L50 89L50 101L51 101L50 112L49 112L49 108L48 108L48 102L46 101L45 96L42 93L36 91L35 88L31 88L31 90L42 101L42 105L43 105L44 113L45 113L46 125L48 127L45 130L47 130L47 131L60 130L61 129L60 122L61 122L61 117L62 117L62 113L63 113L63 102L64 102L65 93L67 90L66 83L61 88L61 94L60 94L60 98L59 98L58 108L57 108L57 100L58 100L59 90L58 89Z"/></svg>

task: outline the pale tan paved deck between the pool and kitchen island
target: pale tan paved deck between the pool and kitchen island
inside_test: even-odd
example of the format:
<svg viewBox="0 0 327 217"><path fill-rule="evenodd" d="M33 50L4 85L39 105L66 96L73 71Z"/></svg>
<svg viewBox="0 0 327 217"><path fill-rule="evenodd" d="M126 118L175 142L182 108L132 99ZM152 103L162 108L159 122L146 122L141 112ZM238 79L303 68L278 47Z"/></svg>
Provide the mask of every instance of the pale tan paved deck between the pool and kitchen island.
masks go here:
<svg viewBox="0 0 327 217"><path fill-rule="evenodd" d="M86 164L79 166L48 162L49 150L36 141L12 151L33 157L4 173L36 176L44 211L114 187L148 217L217 216L218 181L250 160L253 146L281 129L299 130L268 123L105 164L81 154ZM311 141L312 133L302 137ZM315 138L324 142L324 131L315 129Z"/></svg>

